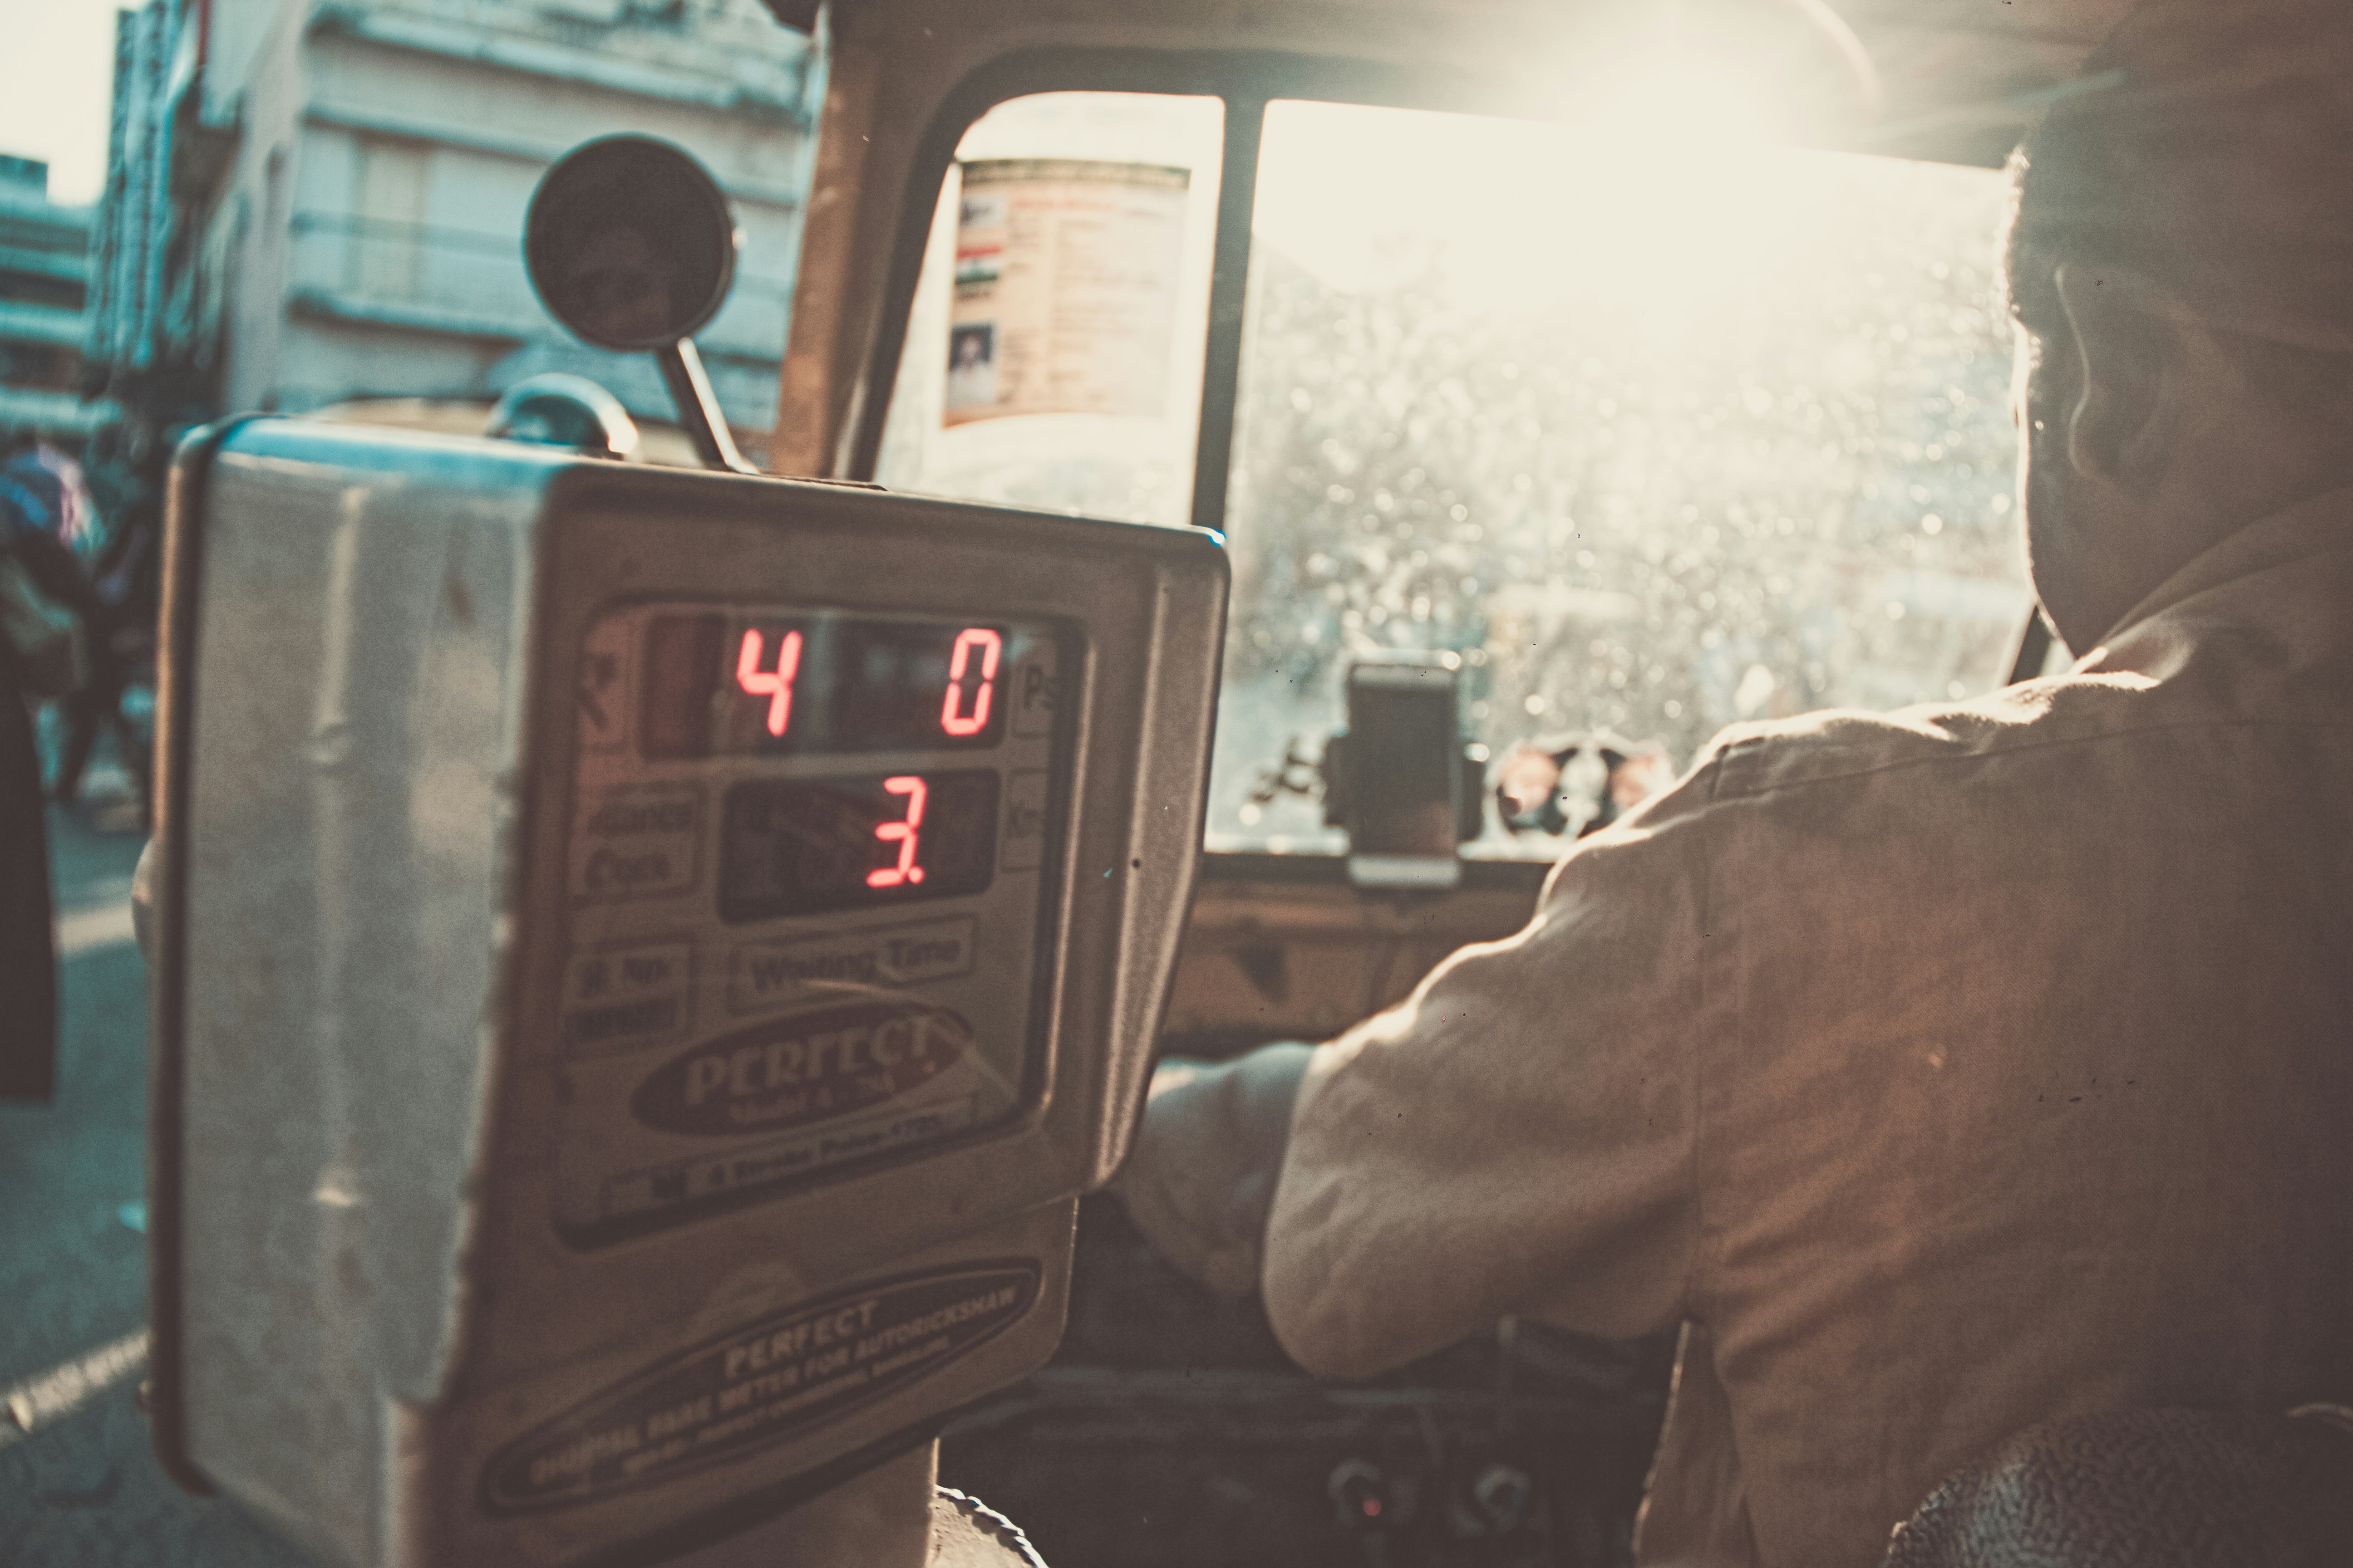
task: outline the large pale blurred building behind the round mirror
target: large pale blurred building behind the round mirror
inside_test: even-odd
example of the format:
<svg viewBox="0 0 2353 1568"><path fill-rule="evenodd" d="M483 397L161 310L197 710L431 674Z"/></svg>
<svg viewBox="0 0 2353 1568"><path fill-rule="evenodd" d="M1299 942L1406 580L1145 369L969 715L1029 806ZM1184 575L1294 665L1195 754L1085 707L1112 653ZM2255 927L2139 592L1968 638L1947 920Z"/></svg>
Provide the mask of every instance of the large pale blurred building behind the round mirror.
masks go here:
<svg viewBox="0 0 2353 1568"><path fill-rule="evenodd" d="M92 383L158 435L242 409L480 428L548 369L668 418L652 360L569 339L520 247L548 162L642 132L734 197L699 346L765 449L819 71L758 0L148 0L118 35Z"/></svg>

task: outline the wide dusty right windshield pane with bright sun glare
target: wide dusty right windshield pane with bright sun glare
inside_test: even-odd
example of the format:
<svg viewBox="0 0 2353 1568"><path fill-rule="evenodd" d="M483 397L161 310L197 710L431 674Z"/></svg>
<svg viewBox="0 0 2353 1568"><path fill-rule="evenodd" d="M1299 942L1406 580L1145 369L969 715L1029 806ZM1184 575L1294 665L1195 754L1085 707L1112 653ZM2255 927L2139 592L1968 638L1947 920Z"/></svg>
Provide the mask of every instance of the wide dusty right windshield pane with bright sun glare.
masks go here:
<svg viewBox="0 0 2353 1568"><path fill-rule="evenodd" d="M1226 505L1212 846L1379 649L1466 722L1673 766L1722 724L1998 686L2028 588L1991 169L1273 103ZM1560 853L1489 811L1468 853Z"/></svg>

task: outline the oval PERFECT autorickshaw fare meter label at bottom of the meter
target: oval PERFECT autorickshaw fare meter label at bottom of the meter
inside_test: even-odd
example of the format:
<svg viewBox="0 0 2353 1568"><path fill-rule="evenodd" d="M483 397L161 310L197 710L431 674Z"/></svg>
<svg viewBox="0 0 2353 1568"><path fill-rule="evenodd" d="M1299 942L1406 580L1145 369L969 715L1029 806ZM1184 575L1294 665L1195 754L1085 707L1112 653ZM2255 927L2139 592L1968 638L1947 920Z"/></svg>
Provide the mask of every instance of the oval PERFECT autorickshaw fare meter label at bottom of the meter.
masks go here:
<svg viewBox="0 0 2353 1568"><path fill-rule="evenodd" d="M482 1467L482 1507L576 1507L805 1436L1012 1328L1038 1281L1028 1260L962 1265L765 1316L501 1448Z"/></svg>

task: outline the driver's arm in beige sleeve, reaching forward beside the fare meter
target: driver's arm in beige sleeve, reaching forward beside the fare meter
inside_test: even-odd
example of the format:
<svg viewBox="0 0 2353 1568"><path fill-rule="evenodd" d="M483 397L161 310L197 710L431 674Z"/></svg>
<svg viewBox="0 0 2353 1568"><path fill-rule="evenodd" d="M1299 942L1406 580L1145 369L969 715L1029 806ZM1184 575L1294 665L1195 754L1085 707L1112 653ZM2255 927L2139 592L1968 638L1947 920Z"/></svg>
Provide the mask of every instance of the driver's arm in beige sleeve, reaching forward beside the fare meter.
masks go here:
<svg viewBox="0 0 2353 1568"><path fill-rule="evenodd" d="M1242 1288L1254 1262L1275 1333L1318 1373L1381 1371L1504 1314L1678 1324L1694 1058L1732 1016L1706 926L1713 790L1708 764L1584 839L1525 931L1464 947L1332 1044L1162 1070L1120 1178L1136 1222L1209 1284Z"/></svg>

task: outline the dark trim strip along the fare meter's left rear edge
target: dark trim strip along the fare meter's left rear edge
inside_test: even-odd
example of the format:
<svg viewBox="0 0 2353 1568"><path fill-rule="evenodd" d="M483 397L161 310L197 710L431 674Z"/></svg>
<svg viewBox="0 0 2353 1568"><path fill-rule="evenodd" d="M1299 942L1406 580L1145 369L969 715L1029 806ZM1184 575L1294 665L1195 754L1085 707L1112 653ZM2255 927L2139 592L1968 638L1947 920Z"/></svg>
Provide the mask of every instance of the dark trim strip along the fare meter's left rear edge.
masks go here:
<svg viewBox="0 0 2353 1568"><path fill-rule="evenodd" d="M148 957L148 1425L155 1458L181 1490L212 1495L188 1458L181 1293L181 1159L186 1154L184 1023L188 1004L188 771L195 738L195 637L205 578L202 501L212 461L256 414L191 430L172 454L162 522L162 656L155 693L155 875Z"/></svg>

